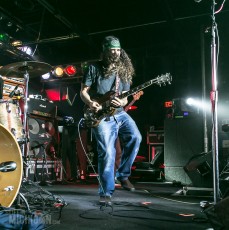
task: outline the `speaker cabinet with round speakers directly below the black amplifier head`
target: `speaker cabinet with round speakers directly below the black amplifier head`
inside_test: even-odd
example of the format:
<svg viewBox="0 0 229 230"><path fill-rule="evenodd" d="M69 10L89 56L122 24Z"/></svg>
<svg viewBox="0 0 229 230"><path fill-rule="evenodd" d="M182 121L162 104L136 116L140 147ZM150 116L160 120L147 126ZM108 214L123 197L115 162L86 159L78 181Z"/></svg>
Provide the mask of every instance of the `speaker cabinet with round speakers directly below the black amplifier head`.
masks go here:
<svg viewBox="0 0 229 230"><path fill-rule="evenodd" d="M28 155L35 158L53 158L58 145L58 128L54 119L28 116Z"/></svg>

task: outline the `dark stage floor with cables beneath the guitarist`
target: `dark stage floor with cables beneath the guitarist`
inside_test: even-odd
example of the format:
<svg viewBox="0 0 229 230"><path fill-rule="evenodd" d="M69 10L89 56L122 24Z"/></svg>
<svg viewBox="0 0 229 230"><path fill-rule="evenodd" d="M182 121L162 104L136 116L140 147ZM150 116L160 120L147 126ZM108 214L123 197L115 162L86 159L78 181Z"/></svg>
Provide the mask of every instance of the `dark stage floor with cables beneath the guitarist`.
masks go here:
<svg viewBox="0 0 229 230"><path fill-rule="evenodd" d="M202 201L212 203L212 196L183 195L181 185L166 182L136 181L134 185L134 192L117 185L113 208L99 206L95 178L87 183L42 186L45 199L56 199L56 210L49 212L48 229L213 229L200 207Z"/></svg>

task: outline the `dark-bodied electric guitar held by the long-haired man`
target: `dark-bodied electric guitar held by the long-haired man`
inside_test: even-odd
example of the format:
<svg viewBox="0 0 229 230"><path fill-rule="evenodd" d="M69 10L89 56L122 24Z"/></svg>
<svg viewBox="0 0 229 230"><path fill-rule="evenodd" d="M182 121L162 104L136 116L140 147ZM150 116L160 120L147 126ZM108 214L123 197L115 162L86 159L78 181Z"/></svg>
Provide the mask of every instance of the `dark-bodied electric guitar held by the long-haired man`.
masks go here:
<svg viewBox="0 0 229 230"><path fill-rule="evenodd" d="M130 89L129 91L122 93L118 96L115 95L114 91L107 92L102 97L95 99L95 101L97 101L102 106L102 109L99 110L98 112L95 112L94 110L90 109L88 106L84 107L85 125L87 127L96 127L103 118L107 116L112 116L117 109L111 106L111 101L115 96L118 97L119 99L123 99L137 92L140 92L142 89L149 87L150 85L158 84L161 86L162 84L165 85L167 82L170 84L171 81L172 81L172 76L169 73L166 73L150 81L147 81L137 87L134 87L133 89Z"/></svg>

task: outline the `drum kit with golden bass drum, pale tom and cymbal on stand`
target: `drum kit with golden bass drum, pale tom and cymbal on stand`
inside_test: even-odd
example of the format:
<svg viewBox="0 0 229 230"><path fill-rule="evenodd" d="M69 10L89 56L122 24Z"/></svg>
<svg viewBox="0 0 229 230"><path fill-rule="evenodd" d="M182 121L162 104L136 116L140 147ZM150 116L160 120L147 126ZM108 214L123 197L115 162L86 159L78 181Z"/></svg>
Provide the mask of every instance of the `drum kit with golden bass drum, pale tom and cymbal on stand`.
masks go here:
<svg viewBox="0 0 229 230"><path fill-rule="evenodd" d="M7 78L24 78L23 108L12 99L0 99L0 206L10 207L22 183L24 160L29 141L27 128L27 101L29 79L51 71L47 63L25 61L0 68ZM15 87L16 88L16 87ZM21 111L24 112L20 116ZM26 165L26 163L25 163Z"/></svg>

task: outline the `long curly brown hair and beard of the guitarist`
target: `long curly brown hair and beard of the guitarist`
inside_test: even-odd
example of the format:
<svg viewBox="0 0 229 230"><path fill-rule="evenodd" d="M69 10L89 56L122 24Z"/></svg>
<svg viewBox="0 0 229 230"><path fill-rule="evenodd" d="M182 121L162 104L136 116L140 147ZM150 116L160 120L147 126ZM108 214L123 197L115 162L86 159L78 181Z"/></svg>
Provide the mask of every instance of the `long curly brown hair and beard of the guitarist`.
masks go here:
<svg viewBox="0 0 229 230"><path fill-rule="evenodd" d="M132 82L135 70L132 61L125 50L120 50L120 58L116 59L114 54L109 52L109 49L102 53L103 73L105 77L111 74L118 74L123 82Z"/></svg>

